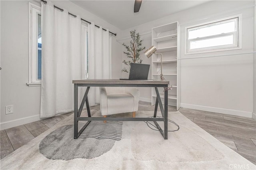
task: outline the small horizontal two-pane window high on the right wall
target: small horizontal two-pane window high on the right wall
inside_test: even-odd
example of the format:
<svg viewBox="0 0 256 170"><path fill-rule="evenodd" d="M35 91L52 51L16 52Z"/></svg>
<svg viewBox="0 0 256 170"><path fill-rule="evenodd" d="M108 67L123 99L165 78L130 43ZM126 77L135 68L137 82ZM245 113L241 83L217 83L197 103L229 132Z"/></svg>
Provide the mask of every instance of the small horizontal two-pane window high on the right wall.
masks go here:
<svg viewBox="0 0 256 170"><path fill-rule="evenodd" d="M241 18L233 16L186 28L185 54L240 49Z"/></svg>

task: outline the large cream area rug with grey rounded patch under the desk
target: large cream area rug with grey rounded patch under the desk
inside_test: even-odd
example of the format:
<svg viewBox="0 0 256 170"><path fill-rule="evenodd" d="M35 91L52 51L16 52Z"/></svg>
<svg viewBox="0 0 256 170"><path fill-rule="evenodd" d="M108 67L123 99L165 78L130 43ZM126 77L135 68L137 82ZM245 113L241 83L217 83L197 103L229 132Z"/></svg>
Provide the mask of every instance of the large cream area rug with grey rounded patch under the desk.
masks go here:
<svg viewBox="0 0 256 170"><path fill-rule="evenodd" d="M93 117L101 116L96 110L91 110L91 114ZM86 111L82 115L86 115ZM152 111L136 113L136 117L152 115ZM168 140L164 140L159 131L153 130L154 127L138 121L92 122L80 138L73 139L74 121L73 115L70 115L0 160L0 168L256 169L250 161L178 111L168 112L168 118L180 127L178 131L168 132ZM79 123L79 128L84 123ZM159 124L163 127L161 122ZM168 130L177 130L177 126L170 122Z"/></svg>

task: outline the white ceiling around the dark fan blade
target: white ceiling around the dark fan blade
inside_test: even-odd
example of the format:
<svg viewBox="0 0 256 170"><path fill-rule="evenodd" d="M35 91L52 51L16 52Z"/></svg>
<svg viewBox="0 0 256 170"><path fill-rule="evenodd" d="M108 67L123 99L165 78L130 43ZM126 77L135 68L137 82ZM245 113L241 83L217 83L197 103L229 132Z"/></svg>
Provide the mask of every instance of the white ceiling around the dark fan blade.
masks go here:
<svg viewBox="0 0 256 170"><path fill-rule="evenodd" d="M120 30L198 6L209 0L142 0L140 11L134 13L134 0L71 0Z"/></svg>

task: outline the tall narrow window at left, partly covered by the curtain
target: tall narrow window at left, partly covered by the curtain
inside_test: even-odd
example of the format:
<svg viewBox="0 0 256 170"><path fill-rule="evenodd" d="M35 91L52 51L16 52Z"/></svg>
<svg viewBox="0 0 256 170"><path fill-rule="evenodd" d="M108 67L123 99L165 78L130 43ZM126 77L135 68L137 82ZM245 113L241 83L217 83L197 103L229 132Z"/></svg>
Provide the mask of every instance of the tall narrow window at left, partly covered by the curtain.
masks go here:
<svg viewBox="0 0 256 170"><path fill-rule="evenodd" d="M41 7L28 3L28 86L41 85Z"/></svg>

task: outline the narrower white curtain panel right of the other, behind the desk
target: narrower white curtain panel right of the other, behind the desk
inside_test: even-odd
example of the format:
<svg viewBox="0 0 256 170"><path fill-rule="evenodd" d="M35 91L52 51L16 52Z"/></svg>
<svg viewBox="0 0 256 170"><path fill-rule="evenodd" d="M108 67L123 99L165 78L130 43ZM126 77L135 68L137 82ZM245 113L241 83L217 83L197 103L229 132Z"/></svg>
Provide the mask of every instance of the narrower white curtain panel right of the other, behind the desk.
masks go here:
<svg viewBox="0 0 256 170"><path fill-rule="evenodd" d="M88 79L110 78L109 33L95 24L88 24ZM91 87L88 100L90 105L100 103L98 87Z"/></svg>

